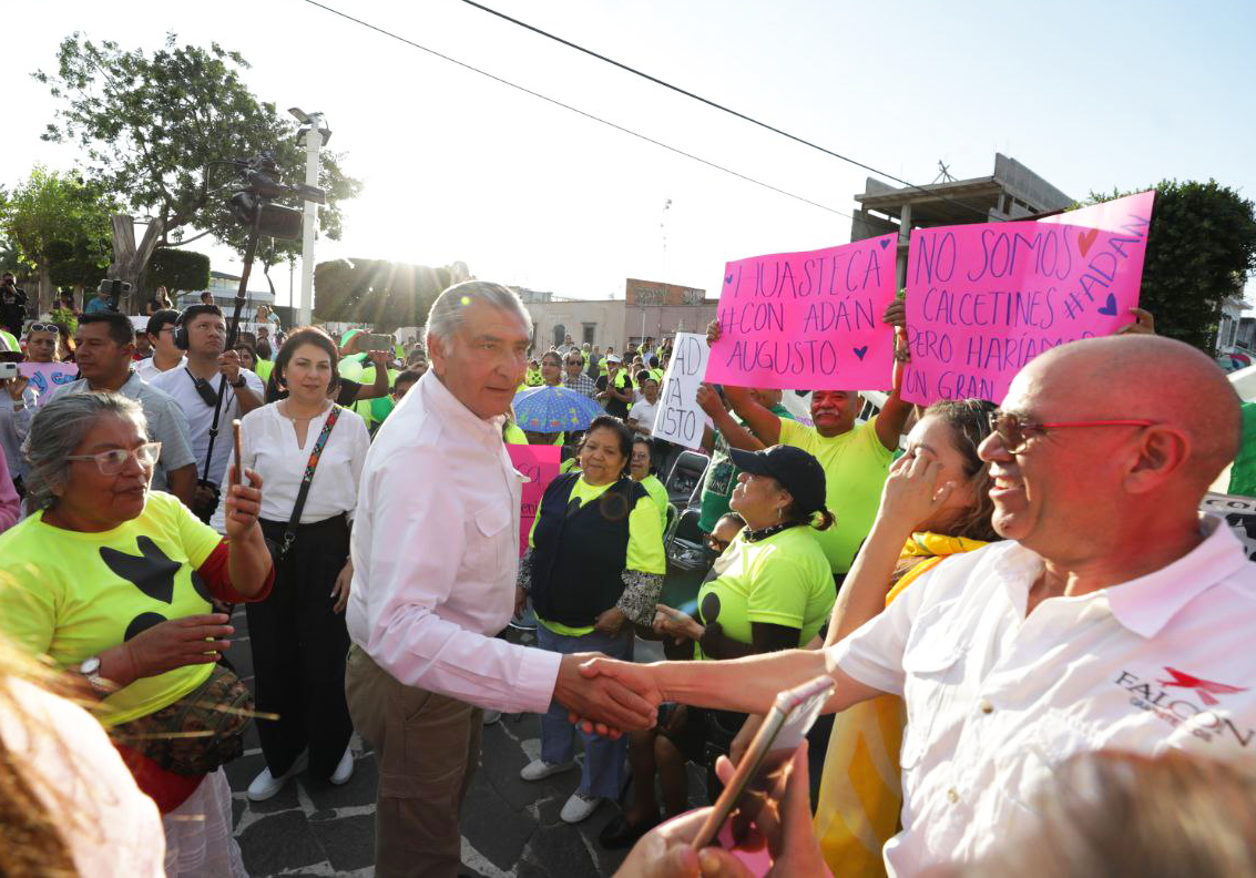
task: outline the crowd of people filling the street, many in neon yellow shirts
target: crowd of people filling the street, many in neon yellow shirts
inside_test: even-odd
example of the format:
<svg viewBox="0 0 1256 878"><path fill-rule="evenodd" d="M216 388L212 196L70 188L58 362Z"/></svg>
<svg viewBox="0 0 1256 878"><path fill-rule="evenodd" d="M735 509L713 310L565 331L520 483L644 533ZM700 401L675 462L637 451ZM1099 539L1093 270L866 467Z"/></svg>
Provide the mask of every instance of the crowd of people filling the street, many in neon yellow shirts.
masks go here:
<svg viewBox="0 0 1256 878"><path fill-rule="evenodd" d="M377 874L456 875L481 730L507 711L540 715L524 780L574 770L582 741L560 816L622 803L599 842L632 848L625 878L751 874L690 848L686 764L713 801L776 693L820 676L836 716L756 819L772 874L1184 874L1138 847L1167 844L1152 828L1193 874L1256 869L1256 575L1197 511L1240 406L1142 314L1044 353L999 408L912 406L901 366L867 420L857 388L814 389L804 423L779 389L703 384L711 566L673 607L677 450L651 436L669 340L536 352L485 281L446 290L404 353L270 314L229 344L212 301L146 310L138 334L89 309L72 339L0 337L0 358L78 369L0 394L0 873L244 874L222 765L255 722L251 800L306 770L347 783L357 730ZM882 322L903 328L902 301ZM533 428L533 393L595 415ZM565 458L521 558L509 443ZM499 636L529 610L536 647ZM634 662L641 638L667 661ZM1177 791L1225 825L1174 825L1150 798Z"/></svg>

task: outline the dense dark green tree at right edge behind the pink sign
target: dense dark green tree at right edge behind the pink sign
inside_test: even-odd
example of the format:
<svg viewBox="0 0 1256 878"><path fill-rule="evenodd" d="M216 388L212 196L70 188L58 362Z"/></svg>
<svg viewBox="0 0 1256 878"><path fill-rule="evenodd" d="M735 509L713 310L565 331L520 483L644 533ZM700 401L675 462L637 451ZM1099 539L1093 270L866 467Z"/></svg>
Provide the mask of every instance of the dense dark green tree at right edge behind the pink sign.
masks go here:
<svg viewBox="0 0 1256 878"><path fill-rule="evenodd" d="M1091 193L1086 203L1124 195L1130 193ZM1156 332L1213 355L1222 305L1242 298L1252 271L1256 205L1215 180L1164 180L1156 186L1138 298L1139 306L1156 315Z"/></svg>

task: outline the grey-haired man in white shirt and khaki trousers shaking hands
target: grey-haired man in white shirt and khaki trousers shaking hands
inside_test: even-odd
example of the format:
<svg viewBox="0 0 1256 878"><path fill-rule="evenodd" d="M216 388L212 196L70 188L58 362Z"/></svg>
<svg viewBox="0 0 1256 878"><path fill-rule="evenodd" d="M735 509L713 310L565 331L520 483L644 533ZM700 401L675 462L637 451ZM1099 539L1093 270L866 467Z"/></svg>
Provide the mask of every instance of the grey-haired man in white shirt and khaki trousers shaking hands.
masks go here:
<svg viewBox="0 0 1256 878"><path fill-rule="evenodd" d="M615 729L653 705L589 686L560 656L496 639L514 613L521 479L501 437L524 381L531 319L497 284L432 305L431 369L367 455L353 529L345 695L379 760L376 874L457 874L458 808L480 757L481 708L551 701Z"/></svg>

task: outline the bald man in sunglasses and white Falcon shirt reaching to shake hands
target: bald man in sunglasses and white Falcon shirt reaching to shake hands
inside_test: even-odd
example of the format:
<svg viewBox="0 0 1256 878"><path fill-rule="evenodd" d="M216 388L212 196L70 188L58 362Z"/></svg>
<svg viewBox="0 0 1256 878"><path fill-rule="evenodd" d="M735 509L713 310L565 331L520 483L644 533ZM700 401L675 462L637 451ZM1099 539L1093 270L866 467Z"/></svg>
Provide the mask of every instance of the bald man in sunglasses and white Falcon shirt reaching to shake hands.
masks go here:
<svg viewBox="0 0 1256 878"><path fill-rule="evenodd" d="M902 696L897 875L1032 833L1035 793L1078 754L1181 750L1250 770L1256 566L1197 512L1238 448L1225 376L1171 339L1090 339L1032 360L1002 406L980 453L1005 541L947 559L821 652L585 672L754 713L819 673L836 681L829 710Z"/></svg>

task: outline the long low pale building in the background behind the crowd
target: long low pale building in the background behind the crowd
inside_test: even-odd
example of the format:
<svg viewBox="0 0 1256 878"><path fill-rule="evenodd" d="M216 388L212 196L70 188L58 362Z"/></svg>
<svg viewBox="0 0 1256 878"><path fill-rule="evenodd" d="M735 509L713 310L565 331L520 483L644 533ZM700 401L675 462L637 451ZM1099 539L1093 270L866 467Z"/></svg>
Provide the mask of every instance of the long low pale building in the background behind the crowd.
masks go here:
<svg viewBox="0 0 1256 878"><path fill-rule="evenodd" d="M561 344L570 334L577 344L608 344L623 350L648 337L662 340L677 332L702 332L715 319L717 299L706 291L628 278L623 299L566 299L553 293L511 288L533 315L536 350Z"/></svg>

